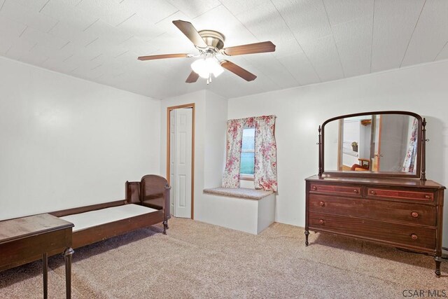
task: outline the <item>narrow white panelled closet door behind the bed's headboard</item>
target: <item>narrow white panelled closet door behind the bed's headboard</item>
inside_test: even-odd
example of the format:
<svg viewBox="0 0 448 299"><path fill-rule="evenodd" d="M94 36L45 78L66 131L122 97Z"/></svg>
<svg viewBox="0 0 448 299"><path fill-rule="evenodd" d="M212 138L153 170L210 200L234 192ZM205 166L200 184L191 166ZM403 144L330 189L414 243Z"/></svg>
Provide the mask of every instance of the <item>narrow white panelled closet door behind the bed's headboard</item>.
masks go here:
<svg viewBox="0 0 448 299"><path fill-rule="evenodd" d="M191 218L191 146L193 109L170 112L169 176L172 186L172 214Z"/></svg>

